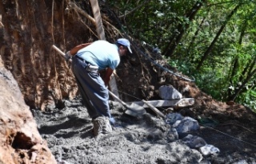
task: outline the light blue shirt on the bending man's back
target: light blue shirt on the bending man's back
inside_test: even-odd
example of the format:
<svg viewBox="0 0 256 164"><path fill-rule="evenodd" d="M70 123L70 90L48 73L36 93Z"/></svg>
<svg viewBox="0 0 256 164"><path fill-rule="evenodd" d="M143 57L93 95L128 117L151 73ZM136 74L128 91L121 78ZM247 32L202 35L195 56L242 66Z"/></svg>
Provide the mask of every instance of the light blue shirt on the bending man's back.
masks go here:
<svg viewBox="0 0 256 164"><path fill-rule="evenodd" d="M91 45L80 49L76 55L90 64L97 65L98 69L114 70L120 63L118 46L104 40L94 41Z"/></svg>

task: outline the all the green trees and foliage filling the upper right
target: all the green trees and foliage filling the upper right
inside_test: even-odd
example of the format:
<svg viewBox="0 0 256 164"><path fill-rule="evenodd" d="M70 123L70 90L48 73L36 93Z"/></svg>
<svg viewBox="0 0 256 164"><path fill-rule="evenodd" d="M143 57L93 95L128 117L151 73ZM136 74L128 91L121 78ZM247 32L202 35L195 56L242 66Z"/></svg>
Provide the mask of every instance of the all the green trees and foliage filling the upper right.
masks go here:
<svg viewBox="0 0 256 164"><path fill-rule="evenodd" d="M204 2L196 17L189 20L193 6ZM214 99L226 101L249 76L248 65L256 54L256 6L250 0L226 1L175 1L109 0L113 9L118 9L126 32L140 41L158 45L164 49L170 38L176 38L184 29L182 40L176 45L174 55L167 58L169 64L188 76L194 76L196 84ZM227 21L235 6L242 4ZM129 11L134 10L129 13ZM225 25L218 40L210 50L200 70L196 70L203 54L209 49L216 34ZM188 28L187 28L188 27ZM181 29L178 29L181 28ZM236 68L234 63L237 61ZM252 67L254 70L256 66ZM235 101L255 110L255 75L246 82ZM246 89L250 86L250 89Z"/></svg>

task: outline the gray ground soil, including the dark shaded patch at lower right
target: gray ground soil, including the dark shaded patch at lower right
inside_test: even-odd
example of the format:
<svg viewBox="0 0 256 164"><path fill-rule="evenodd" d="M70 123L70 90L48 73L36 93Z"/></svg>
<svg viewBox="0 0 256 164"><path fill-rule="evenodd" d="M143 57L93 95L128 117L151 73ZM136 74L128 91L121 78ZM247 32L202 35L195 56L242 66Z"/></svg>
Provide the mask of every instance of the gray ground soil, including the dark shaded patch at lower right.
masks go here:
<svg viewBox="0 0 256 164"><path fill-rule="evenodd" d="M219 154L202 156L180 139L168 135L170 125L147 109L135 118L124 114L125 107L110 101L116 123L113 133L98 139L79 98L63 101L63 108L32 110L38 130L58 163L256 163L255 132L240 123L201 126L190 134L218 147Z"/></svg>

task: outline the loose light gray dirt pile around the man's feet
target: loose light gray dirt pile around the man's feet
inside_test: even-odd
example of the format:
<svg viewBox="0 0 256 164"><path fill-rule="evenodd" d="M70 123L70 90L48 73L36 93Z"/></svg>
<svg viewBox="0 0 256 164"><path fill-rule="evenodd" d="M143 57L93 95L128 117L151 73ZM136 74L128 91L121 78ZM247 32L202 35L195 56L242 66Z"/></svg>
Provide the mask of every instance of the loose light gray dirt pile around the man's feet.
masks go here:
<svg viewBox="0 0 256 164"><path fill-rule="evenodd" d="M167 139L168 126L150 114L142 118L123 115L119 103L110 103L116 120L114 131L95 139L92 123L85 107L69 103L62 110L41 113L39 131L48 141L58 162L68 163L171 163L202 160L202 155L184 143Z"/></svg>

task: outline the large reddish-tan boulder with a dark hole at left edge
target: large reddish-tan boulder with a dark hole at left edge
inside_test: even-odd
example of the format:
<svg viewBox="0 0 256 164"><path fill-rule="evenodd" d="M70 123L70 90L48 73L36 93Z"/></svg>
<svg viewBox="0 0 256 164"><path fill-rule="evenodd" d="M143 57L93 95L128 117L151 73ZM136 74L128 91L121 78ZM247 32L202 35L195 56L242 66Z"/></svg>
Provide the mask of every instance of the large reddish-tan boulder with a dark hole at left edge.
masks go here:
<svg viewBox="0 0 256 164"><path fill-rule="evenodd" d="M0 64L0 163L57 163L12 74Z"/></svg>

